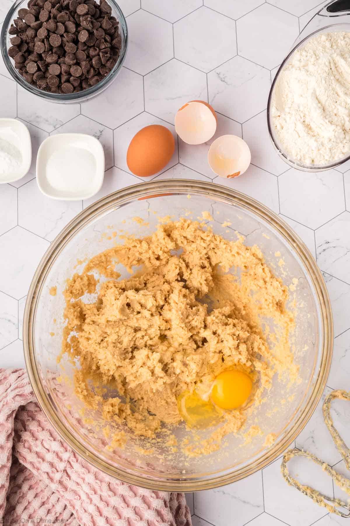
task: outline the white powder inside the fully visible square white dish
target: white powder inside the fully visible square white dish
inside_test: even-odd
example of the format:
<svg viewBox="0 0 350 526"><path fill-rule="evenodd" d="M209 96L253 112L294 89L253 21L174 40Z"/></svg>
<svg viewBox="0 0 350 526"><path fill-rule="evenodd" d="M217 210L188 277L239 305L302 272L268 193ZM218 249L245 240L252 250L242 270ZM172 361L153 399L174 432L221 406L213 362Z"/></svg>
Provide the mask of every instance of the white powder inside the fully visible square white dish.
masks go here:
<svg viewBox="0 0 350 526"><path fill-rule="evenodd" d="M96 159L86 148L65 146L55 150L47 161L47 181L57 191L85 194L95 176Z"/></svg>

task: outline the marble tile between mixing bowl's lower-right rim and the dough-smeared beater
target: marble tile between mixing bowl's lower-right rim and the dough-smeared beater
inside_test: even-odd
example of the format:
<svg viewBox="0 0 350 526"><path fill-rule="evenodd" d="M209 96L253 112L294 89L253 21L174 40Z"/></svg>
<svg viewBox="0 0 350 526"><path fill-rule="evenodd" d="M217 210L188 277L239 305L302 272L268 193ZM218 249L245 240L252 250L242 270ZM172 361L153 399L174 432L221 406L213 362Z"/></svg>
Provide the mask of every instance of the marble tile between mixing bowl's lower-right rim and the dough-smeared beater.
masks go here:
<svg viewBox="0 0 350 526"><path fill-rule="evenodd" d="M333 466L333 464L341 460L341 455L334 446L322 414L323 401L330 392L331 389L326 387L315 412L296 438L295 444L297 448L314 453L316 457Z"/></svg>

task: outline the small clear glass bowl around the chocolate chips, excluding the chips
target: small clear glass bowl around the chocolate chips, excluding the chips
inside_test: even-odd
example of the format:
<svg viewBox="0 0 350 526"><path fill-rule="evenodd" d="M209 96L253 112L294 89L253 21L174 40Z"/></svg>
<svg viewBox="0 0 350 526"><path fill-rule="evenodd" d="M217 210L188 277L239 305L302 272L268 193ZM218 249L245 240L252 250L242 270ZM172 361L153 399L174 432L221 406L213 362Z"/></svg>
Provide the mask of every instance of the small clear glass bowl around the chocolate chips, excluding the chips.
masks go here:
<svg viewBox="0 0 350 526"><path fill-rule="evenodd" d="M39 89L33 84L29 84L28 82L26 82L26 80L22 77L22 75L20 75L17 72L17 69L14 67L14 60L8 56L7 50L11 45L11 35L8 34L8 29L13 23L13 19L17 18L18 9L20 9L21 7L27 7L27 3L28 0L17 0L13 4L13 6L10 8L9 12L5 17L3 27L1 30L0 48L5 66L7 67L9 74L16 80L16 82L20 86L26 89L29 93L37 95L38 97L44 100L48 100L49 102L65 104L81 103L103 92L103 90L113 82L115 77L120 72L120 69L125 60L126 49L128 48L128 27L126 26L126 20L119 5L116 2L114 2L114 0L108 0L108 3L112 8L112 16L115 16L115 18L119 21L119 32L120 36L122 37L122 47L120 50L118 61L116 62L115 66L107 75L107 77L104 77L101 80L101 82L96 84L96 86L91 86L90 88L84 89L78 93L63 94L46 92L45 90Z"/></svg>

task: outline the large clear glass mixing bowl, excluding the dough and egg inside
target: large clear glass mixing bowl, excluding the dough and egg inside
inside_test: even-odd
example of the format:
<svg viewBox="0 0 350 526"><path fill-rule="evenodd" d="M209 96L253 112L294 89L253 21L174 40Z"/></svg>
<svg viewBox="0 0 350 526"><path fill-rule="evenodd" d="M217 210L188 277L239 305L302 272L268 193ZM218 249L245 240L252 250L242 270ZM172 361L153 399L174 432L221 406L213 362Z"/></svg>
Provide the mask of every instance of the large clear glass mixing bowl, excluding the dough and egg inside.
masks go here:
<svg viewBox="0 0 350 526"><path fill-rule="evenodd" d="M188 197L190 196L190 198ZM65 324L62 291L66 279L82 267L77 259L91 258L102 250L122 243L111 232L125 229L129 235L145 236L153 232L159 216L196 219L204 210L213 214L213 230L235 240L236 231L246 236L246 244L257 244L268 264L289 285L298 278L296 303L301 305L293 333L295 362L300 366L300 383L291 388L294 398L285 400L285 385L274 379L270 395L254 415L264 433L274 432L270 448L265 437L244 443L228 435L219 451L198 458L181 452L167 453L164 444L153 444L154 452L145 456L140 447L149 449L147 439L129 436L125 449L106 447L98 411L85 411L73 393L70 381L59 381L62 374L57 356L61 351L61 333ZM147 221L140 226L132 219ZM231 226L222 226L229 220ZM284 258L283 269L276 252ZM278 256L278 255L277 255ZM120 269L118 269L120 270ZM125 272L122 277L126 277ZM50 296L51 287L57 295ZM56 323L52 320L55 319ZM55 335L50 335L54 332ZM25 359L31 385L39 404L52 426L81 457L100 470L123 481L165 491L195 491L234 482L263 468L298 436L311 417L326 385L331 365L333 323L330 300L319 268L295 232L271 210L237 191L213 183L192 180L163 180L142 183L110 194L83 210L52 242L41 260L28 293L24 314ZM63 361L64 375L72 377L72 366ZM269 412L271 411L271 413ZM275 412L273 412L275 411ZM248 419L249 420L249 419ZM247 422L249 429L252 422ZM184 429L179 426L178 436ZM177 433L176 431L176 433ZM205 437L207 431L199 431Z"/></svg>

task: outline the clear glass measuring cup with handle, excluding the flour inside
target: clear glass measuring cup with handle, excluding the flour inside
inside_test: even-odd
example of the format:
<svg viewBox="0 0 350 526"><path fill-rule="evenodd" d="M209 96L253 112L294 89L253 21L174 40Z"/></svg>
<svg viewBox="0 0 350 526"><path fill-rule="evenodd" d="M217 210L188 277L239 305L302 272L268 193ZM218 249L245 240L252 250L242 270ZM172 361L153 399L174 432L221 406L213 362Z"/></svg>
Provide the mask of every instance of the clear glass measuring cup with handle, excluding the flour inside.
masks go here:
<svg viewBox="0 0 350 526"><path fill-rule="evenodd" d="M298 38L296 38L291 51L288 53L287 57L284 58L282 64L280 65L277 74L275 75L270 93L268 98L268 107L267 107L267 120L268 120L268 130L270 139L272 141L272 145L274 149L277 151L279 156L292 168L297 168L298 170L302 171L324 171L329 170L331 168L335 168L343 163L345 163L347 160L350 159L350 153L336 161L333 161L332 163L326 164L326 165L305 165L300 163L299 161L296 161L292 159L282 148L282 146L279 143L278 138L275 136L273 132L273 126L272 126L272 119L271 119L271 99L272 99L272 93L275 87L275 84L277 82L277 79L282 72L284 66L289 62L289 59L295 52L295 50L299 49L301 46L305 45L305 43L310 39L315 37L316 35L322 34L322 33L330 33L330 32L338 32L338 31L346 31L350 32L350 0L333 0L332 2L324 5L320 11L318 11L300 32Z"/></svg>

